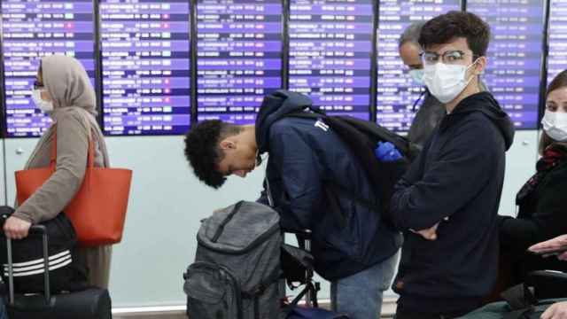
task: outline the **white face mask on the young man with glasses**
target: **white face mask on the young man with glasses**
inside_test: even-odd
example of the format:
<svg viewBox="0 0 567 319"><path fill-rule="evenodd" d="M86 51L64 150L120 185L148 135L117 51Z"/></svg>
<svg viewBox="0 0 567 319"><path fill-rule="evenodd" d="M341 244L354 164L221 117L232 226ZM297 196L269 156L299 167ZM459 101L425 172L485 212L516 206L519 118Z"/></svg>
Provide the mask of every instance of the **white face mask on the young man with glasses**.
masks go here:
<svg viewBox="0 0 567 319"><path fill-rule="evenodd" d="M474 66L476 62L473 62L470 66ZM470 66L447 65L441 62L426 65L423 67L423 82L439 102L451 102L461 94L462 90L472 80L474 75L471 75L469 80L465 79Z"/></svg>

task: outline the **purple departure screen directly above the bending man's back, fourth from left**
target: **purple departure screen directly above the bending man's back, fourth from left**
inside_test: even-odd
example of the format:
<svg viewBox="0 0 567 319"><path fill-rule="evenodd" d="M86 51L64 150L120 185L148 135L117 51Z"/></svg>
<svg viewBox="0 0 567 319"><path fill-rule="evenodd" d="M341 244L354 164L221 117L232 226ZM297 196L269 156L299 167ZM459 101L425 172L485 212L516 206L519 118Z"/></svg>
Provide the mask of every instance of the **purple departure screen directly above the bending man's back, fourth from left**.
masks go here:
<svg viewBox="0 0 567 319"><path fill-rule="evenodd" d="M371 0L291 0L289 88L369 120L373 12Z"/></svg>

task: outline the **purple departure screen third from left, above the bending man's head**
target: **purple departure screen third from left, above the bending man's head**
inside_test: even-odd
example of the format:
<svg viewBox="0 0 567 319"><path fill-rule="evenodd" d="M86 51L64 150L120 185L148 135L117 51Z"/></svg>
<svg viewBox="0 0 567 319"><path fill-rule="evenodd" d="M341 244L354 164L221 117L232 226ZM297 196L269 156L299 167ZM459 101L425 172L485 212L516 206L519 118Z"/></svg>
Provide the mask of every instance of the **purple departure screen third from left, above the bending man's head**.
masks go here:
<svg viewBox="0 0 567 319"><path fill-rule="evenodd" d="M282 87L282 13L280 0L198 1L198 121L253 123Z"/></svg>

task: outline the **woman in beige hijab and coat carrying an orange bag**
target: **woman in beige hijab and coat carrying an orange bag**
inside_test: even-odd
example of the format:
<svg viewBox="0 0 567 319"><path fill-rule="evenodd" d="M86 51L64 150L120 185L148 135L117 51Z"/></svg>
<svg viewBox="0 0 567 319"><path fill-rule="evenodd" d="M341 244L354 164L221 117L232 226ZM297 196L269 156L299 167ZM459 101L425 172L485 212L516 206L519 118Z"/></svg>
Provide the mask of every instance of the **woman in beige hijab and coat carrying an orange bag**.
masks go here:
<svg viewBox="0 0 567 319"><path fill-rule="evenodd" d="M4 223L6 236L13 239L27 237L31 225L54 218L74 198L85 175L89 138L95 146L95 167L109 164L96 119L95 91L79 61L59 55L42 58L32 98L53 122L35 145L25 169L49 167L55 142L57 163L50 178ZM89 284L108 286L111 253L110 245L78 249L80 262L89 268Z"/></svg>

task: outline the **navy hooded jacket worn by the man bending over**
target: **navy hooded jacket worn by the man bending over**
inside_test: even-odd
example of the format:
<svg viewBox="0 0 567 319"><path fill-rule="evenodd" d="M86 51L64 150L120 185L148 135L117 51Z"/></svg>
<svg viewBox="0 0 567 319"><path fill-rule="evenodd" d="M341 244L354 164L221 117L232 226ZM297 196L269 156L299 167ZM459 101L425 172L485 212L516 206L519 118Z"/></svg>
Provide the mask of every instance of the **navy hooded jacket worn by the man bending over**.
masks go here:
<svg viewBox="0 0 567 319"><path fill-rule="evenodd" d="M332 212L325 185L335 183L364 198L374 198L357 159L330 128L320 121L283 117L297 105L310 104L291 94L283 105L264 103L256 120L260 153L268 152L266 175L274 206L288 229L313 231L315 270L328 280L353 275L391 257L401 235L383 216L340 192L340 212ZM265 202L265 201L264 201ZM338 214L346 221L341 226Z"/></svg>

